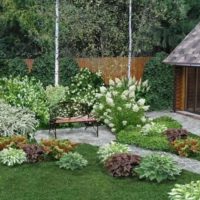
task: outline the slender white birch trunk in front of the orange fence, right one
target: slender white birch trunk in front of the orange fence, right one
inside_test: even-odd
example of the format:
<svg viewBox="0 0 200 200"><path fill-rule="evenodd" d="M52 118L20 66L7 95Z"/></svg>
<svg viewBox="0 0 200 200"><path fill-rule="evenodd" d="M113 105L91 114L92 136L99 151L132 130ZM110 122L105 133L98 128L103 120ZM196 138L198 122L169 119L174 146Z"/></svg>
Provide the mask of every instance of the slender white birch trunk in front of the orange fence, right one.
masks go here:
<svg viewBox="0 0 200 200"><path fill-rule="evenodd" d="M128 79L131 78L131 59L132 59L132 0L129 0L129 48L128 48Z"/></svg>

